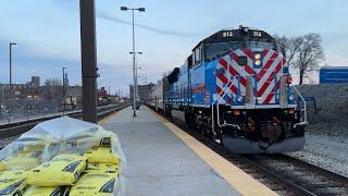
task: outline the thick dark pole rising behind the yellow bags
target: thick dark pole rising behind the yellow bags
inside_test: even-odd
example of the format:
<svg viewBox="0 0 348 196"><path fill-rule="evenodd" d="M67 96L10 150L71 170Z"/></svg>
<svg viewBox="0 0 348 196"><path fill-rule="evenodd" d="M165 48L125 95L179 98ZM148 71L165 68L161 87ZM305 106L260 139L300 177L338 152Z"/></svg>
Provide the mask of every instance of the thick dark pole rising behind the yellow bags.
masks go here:
<svg viewBox="0 0 348 196"><path fill-rule="evenodd" d="M97 41L95 0L79 0L83 120L97 123Z"/></svg>

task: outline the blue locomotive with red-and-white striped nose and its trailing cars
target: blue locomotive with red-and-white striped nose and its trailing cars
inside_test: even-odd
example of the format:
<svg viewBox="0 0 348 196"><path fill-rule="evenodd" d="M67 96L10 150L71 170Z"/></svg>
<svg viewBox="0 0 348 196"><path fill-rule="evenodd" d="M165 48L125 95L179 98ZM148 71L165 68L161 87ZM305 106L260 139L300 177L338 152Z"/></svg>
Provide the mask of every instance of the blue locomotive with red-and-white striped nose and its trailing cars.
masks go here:
<svg viewBox="0 0 348 196"><path fill-rule="evenodd" d="M240 26L201 40L146 102L166 117L183 111L192 130L235 152L297 151L304 145L306 107L290 84L275 39Z"/></svg>

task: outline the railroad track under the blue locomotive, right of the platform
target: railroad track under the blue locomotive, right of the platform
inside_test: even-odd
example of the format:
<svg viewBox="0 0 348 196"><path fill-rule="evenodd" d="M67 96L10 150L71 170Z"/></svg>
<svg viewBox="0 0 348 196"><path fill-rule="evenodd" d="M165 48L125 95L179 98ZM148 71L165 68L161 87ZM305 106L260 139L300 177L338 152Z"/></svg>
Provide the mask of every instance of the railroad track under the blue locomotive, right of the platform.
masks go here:
<svg viewBox="0 0 348 196"><path fill-rule="evenodd" d="M348 195L348 179L283 155L237 155L190 130L173 117L172 123L279 195Z"/></svg>

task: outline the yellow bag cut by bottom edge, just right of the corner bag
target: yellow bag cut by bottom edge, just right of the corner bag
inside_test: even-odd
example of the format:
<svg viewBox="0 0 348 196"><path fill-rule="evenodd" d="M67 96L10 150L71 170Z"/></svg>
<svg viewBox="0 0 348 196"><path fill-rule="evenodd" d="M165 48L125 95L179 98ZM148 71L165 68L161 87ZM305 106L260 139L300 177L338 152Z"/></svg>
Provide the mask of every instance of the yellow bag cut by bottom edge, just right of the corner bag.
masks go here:
<svg viewBox="0 0 348 196"><path fill-rule="evenodd" d="M67 195L69 187L67 186L30 186L25 192L24 196L64 196Z"/></svg>

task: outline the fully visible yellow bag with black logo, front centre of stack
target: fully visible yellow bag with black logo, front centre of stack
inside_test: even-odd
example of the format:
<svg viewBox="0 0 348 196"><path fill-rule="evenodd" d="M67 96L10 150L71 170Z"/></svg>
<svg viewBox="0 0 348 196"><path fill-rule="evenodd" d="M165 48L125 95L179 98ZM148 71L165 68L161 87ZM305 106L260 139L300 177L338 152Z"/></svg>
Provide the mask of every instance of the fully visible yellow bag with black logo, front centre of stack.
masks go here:
<svg viewBox="0 0 348 196"><path fill-rule="evenodd" d="M27 182L36 186L73 185L85 168L85 157L62 154L29 171Z"/></svg>

